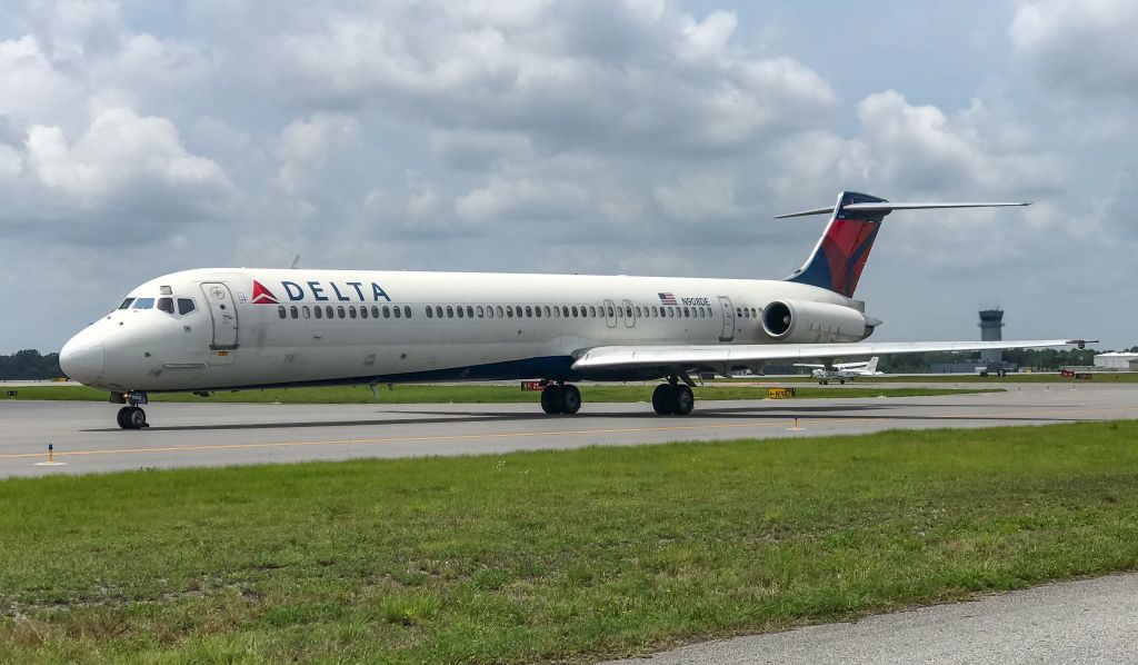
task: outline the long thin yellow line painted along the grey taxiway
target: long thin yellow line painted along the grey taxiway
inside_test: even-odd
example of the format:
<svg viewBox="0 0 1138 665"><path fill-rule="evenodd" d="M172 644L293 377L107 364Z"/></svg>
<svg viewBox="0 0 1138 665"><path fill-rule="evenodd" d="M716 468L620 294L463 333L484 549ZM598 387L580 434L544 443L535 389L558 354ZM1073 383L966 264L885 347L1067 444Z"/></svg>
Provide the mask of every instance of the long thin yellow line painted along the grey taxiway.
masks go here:
<svg viewBox="0 0 1138 665"><path fill-rule="evenodd" d="M1113 413L1121 411L1135 411L1138 410L1138 405L1135 407L1121 407L1114 409L1067 409L1067 410L1044 410L1044 411L1009 411L1003 413L990 413L990 412L979 412L979 413L945 413L935 416L939 419L960 419L960 420L987 420L990 418L1013 418L1013 417L1025 417L1025 416L1055 416L1055 414L1074 414L1074 413ZM920 417L914 417L920 418ZM904 416L896 418L897 420L905 420ZM839 422L881 422L881 418L799 418L800 425L832 425ZM442 435L429 435L429 436L387 436L387 437L376 437L376 438L345 438L345 440L332 440L332 441L282 441L282 442L266 442L266 443L217 443L217 444L203 444L203 445L172 445L172 446L154 446L154 448L123 448L123 449L104 449L104 450L72 450L72 451L55 451L56 457L79 457L79 455L114 455L114 454L132 454L140 452L196 452L196 451L209 451L209 450L255 450L255 449L271 449L271 448L298 448L298 446L325 446L325 445L360 445L360 444L374 444L374 443L424 443L424 442L444 442L444 441L478 441L488 438L531 438L536 436L580 436L589 434L635 434L635 433L646 433L646 432L693 432L699 429L744 429L744 428L760 428L760 427L785 427L791 424L791 419L786 420L774 420L766 422L716 422L716 424L699 424L699 425L670 425L670 426L659 426L659 427L616 427L616 428L597 428L597 429L570 429L570 430L549 430L549 432L487 432L485 434L442 434ZM390 421L390 425L398 425L398 420ZM0 459L28 459L28 458L42 458L42 452L26 452L26 453L8 453L0 454Z"/></svg>

